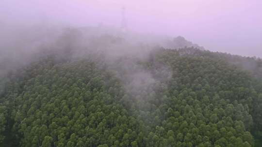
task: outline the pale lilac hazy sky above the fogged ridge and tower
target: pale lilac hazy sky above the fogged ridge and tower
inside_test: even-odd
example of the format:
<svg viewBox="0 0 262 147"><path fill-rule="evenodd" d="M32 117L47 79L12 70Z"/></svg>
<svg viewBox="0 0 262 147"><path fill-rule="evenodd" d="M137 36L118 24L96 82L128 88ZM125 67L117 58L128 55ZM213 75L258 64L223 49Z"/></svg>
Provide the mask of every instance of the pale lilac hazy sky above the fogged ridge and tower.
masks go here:
<svg viewBox="0 0 262 147"><path fill-rule="evenodd" d="M184 36L212 51L262 57L262 0L0 0L1 24L51 22Z"/></svg>

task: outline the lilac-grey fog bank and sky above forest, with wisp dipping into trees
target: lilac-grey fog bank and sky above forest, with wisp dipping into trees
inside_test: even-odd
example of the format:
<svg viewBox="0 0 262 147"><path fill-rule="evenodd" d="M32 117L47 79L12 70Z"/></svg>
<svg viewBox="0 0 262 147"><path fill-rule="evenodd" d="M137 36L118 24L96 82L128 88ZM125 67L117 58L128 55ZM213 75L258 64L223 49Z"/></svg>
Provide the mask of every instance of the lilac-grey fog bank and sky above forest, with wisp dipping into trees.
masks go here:
<svg viewBox="0 0 262 147"><path fill-rule="evenodd" d="M59 59L103 54L138 91L159 80L135 64L157 46L262 57L261 0L0 0L0 6L0 77L45 52L66 52ZM131 59L115 64L126 55Z"/></svg>

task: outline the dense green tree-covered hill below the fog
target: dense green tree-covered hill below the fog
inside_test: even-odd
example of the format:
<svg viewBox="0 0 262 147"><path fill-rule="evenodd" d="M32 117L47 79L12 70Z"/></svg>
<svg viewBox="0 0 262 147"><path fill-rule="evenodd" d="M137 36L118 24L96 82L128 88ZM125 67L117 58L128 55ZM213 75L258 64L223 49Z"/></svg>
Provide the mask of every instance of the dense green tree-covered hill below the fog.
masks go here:
<svg viewBox="0 0 262 147"><path fill-rule="evenodd" d="M262 147L261 60L47 56L1 81L1 147Z"/></svg>

